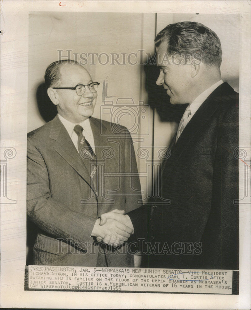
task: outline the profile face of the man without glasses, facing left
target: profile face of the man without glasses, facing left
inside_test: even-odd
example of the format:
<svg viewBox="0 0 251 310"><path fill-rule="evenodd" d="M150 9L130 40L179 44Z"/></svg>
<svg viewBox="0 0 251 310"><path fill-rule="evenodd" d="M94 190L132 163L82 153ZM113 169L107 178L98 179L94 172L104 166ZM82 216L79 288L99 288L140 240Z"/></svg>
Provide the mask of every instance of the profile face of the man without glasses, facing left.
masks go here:
<svg viewBox="0 0 251 310"><path fill-rule="evenodd" d="M156 48L156 52L158 53L157 65L160 69L156 84L163 85L167 90L171 104L189 103L189 97L192 91L190 65L175 64L171 57L168 57L167 60L167 46L168 43L163 41Z"/></svg>

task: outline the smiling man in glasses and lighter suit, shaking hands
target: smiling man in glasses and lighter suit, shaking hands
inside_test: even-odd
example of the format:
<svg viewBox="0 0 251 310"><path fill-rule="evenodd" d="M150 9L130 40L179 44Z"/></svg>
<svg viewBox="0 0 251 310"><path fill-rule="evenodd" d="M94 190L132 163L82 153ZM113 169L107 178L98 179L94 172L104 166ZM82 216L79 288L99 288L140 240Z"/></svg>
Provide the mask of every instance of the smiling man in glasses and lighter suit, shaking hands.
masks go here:
<svg viewBox="0 0 251 310"><path fill-rule="evenodd" d="M118 245L133 231L112 220L99 225L102 213L133 210L141 199L131 136L125 127L114 136L111 123L91 117L99 83L75 61L50 64L45 84L58 115L28 134L27 213L38 230L33 264L133 267L124 245L115 250L95 240L110 234Z"/></svg>

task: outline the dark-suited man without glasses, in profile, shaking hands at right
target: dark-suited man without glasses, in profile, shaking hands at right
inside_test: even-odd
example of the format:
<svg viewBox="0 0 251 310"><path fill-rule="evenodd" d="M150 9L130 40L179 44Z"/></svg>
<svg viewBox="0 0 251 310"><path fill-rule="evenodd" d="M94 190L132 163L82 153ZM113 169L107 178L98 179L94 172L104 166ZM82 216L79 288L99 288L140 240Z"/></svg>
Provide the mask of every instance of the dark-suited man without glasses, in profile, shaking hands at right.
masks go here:
<svg viewBox="0 0 251 310"><path fill-rule="evenodd" d="M136 238L150 244L149 267L238 269L239 96L221 79L220 40L202 24L180 22L158 33L155 47L156 83L171 104L188 104L163 162L161 198L102 222L130 218Z"/></svg>

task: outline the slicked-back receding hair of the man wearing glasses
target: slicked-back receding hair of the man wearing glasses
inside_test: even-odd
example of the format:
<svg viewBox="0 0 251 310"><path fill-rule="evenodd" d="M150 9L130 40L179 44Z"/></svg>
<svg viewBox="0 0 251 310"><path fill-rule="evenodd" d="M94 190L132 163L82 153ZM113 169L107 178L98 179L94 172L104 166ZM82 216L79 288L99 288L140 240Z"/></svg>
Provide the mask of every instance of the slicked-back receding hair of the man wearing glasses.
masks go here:
<svg viewBox="0 0 251 310"><path fill-rule="evenodd" d="M76 60L64 59L54 61L45 71L45 85L47 88L54 86L58 87L60 82L60 65L62 64L79 64Z"/></svg>

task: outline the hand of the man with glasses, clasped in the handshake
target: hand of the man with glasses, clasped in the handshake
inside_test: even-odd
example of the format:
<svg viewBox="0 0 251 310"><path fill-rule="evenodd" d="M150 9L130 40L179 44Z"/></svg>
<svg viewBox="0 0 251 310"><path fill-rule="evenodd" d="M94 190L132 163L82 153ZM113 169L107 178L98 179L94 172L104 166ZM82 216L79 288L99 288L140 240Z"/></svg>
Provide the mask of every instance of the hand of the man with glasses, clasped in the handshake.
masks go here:
<svg viewBox="0 0 251 310"><path fill-rule="evenodd" d="M98 241L101 241L102 239L108 240L109 238L109 242L106 243L114 246L118 246L128 240L133 232L133 228L126 226L116 219L109 218L108 216L105 220L106 222L103 222L102 225L100 225L100 219L96 220L91 233L92 236L99 237L97 238Z"/></svg>

